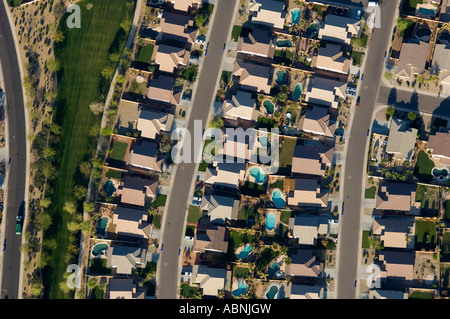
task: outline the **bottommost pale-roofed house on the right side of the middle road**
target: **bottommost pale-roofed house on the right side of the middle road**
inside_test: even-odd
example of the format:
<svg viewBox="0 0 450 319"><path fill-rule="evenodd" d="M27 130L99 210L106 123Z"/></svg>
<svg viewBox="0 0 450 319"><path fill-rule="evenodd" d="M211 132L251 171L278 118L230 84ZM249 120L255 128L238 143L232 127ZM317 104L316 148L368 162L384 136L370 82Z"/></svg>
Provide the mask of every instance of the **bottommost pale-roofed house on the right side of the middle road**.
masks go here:
<svg viewBox="0 0 450 319"><path fill-rule="evenodd" d="M226 269L204 265L194 265L192 268L192 282L199 284L203 296L217 297L219 291L225 290L226 278Z"/></svg>

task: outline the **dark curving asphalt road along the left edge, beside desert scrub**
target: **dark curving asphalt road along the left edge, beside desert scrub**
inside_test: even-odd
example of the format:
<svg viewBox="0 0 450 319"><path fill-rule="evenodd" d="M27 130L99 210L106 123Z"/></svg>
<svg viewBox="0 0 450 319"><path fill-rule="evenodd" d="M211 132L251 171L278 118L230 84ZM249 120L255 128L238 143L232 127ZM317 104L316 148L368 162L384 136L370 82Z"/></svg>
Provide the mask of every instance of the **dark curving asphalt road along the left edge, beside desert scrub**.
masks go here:
<svg viewBox="0 0 450 319"><path fill-rule="evenodd" d="M22 93L22 81L17 59L16 47L3 1L0 1L0 61L5 80L5 92L8 108L9 154L11 164L6 179L8 189L6 203L5 238L6 250L3 255L3 273L1 298L19 297L20 251L22 236L16 235L16 216L25 198L26 184L26 129L25 111ZM3 243L2 243L3 245Z"/></svg>

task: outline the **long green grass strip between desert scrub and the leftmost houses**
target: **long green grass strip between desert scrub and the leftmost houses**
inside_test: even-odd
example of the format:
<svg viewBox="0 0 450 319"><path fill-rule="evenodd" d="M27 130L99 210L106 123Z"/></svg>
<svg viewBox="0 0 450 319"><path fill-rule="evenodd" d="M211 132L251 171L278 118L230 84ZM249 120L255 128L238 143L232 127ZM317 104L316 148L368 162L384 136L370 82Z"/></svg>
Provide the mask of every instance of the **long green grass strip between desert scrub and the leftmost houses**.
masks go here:
<svg viewBox="0 0 450 319"><path fill-rule="evenodd" d="M44 240L52 239L58 244L55 249L46 251L51 257L43 270L46 299L71 298L60 289L60 283L64 281L68 264L77 262L78 258L74 256L68 261L65 258L73 236L69 236L66 227L71 217L63 213L62 208L66 202L74 201L73 189L78 182L79 164L89 160L92 150L97 147L97 139L90 138L88 132L92 126L100 125L100 117L92 114L89 104L100 101L102 94L106 96L109 81L102 79L101 71L106 66L115 68L116 64L112 66L108 55L122 51L127 34L120 23L132 14L127 12L126 0L97 0L90 9L86 8L87 3L89 1L77 3L83 17L81 28L69 32L66 24L69 15L61 20L59 28L64 32L65 40L54 50L61 63L61 71L58 73L53 120L61 125L62 133L59 143L52 145L57 151L55 164L58 175L51 185L52 205L48 208L53 223L44 233ZM83 186L87 186L87 181ZM79 241L73 244L78 245Z"/></svg>

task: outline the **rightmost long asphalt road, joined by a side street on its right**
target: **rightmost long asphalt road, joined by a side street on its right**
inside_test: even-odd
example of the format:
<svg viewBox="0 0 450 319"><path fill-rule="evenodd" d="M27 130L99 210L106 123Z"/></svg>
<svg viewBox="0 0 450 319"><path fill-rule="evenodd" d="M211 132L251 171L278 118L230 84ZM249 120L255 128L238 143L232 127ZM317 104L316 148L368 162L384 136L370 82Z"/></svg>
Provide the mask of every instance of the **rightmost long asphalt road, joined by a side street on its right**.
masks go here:
<svg viewBox="0 0 450 319"><path fill-rule="evenodd" d="M348 143L343 181L344 214L341 216L337 267L338 299L356 298L355 280L358 279L359 252L361 249L360 219L365 184L368 143L367 130L371 125L378 88L384 65L384 52L392 34L392 21L397 1L383 1L381 5L381 28L375 29L368 52L364 78L360 87L361 102L355 109ZM359 283L359 280L358 280Z"/></svg>

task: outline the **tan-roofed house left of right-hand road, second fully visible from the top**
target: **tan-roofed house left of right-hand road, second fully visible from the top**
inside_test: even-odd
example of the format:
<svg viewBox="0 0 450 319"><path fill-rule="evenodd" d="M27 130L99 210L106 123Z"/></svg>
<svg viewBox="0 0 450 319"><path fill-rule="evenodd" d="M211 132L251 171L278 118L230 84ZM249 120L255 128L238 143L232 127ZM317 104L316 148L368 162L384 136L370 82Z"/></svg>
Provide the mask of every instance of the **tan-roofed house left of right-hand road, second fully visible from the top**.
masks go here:
<svg viewBox="0 0 450 319"><path fill-rule="evenodd" d="M319 49L319 54L311 62L313 68L331 72L348 74L350 58L343 50L342 45L328 43Z"/></svg>

